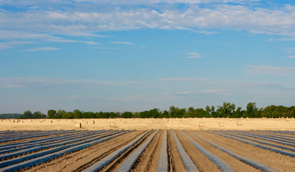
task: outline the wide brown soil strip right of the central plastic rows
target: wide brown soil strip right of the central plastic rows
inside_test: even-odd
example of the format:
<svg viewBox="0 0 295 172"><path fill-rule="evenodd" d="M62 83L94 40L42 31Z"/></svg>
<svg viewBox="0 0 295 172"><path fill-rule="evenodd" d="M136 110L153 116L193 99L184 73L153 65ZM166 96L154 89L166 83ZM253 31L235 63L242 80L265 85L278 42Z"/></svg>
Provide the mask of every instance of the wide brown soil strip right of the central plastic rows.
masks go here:
<svg viewBox="0 0 295 172"><path fill-rule="evenodd" d="M192 130L192 132L199 134L200 136L205 137L206 139L218 145L221 145L222 147L232 150L233 152L236 152L239 155L242 155L246 158L251 158L255 161L271 166L279 171L295 171L295 158L291 158L286 155L281 155L270 150L261 149L213 133L201 130Z"/></svg>

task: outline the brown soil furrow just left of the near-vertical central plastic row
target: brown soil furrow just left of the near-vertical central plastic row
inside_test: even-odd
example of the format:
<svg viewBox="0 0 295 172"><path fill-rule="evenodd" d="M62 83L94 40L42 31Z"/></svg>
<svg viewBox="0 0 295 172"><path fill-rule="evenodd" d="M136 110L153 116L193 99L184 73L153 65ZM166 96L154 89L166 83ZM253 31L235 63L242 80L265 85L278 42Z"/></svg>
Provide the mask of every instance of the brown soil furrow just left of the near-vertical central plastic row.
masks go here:
<svg viewBox="0 0 295 172"><path fill-rule="evenodd" d="M156 172L164 130L160 130L135 162L131 172Z"/></svg>

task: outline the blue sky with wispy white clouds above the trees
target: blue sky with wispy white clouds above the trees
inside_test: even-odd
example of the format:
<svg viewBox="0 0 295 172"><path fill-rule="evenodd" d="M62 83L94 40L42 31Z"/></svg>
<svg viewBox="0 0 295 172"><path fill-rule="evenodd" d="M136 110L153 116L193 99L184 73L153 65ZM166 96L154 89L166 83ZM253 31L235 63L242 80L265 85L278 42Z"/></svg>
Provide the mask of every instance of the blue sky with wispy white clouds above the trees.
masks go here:
<svg viewBox="0 0 295 172"><path fill-rule="evenodd" d="M294 1L2 0L0 113L294 106L294 28Z"/></svg>

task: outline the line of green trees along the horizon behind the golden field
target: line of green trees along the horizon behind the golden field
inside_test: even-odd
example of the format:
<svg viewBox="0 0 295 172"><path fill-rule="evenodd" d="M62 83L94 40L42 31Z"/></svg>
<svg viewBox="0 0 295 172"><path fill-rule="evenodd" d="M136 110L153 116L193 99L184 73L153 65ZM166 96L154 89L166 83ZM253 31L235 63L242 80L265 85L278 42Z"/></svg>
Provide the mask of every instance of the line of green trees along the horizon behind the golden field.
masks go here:
<svg viewBox="0 0 295 172"><path fill-rule="evenodd" d="M242 110L241 107L235 107L234 103L223 102L222 105L206 106L205 109L189 107L178 108L175 106L170 106L169 111L160 111L158 108L151 109L149 111L142 112L85 112L80 110L74 110L73 112L66 112L59 109L48 110L47 115L36 111L32 113L31 111L25 111L20 119L80 119L80 118L210 118L210 117L228 117L228 118L280 118L280 117L295 117L295 106L285 107L285 106L267 106L266 108L257 108L256 103L248 103L246 110Z"/></svg>

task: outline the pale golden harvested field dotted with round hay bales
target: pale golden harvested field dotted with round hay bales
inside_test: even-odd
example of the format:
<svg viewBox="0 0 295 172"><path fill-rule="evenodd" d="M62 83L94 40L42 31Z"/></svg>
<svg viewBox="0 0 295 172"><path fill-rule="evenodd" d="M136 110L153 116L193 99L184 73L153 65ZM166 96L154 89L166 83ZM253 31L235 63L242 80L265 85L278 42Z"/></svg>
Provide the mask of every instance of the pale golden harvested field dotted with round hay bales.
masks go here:
<svg viewBox="0 0 295 172"><path fill-rule="evenodd" d="M289 119L288 122L285 119L200 119L192 118L189 119L85 119L88 121L88 124L85 124L85 121L81 119L74 119L76 123L81 123L81 130L98 130L98 129L173 129L173 130L289 130L295 131L295 119ZM141 120L141 122L139 122ZM42 121L42 122L41 122ZM8 119L2 120L0 122L0 131L2 130L72 130L74 129L75 124L72 120L65 121L61 119L60 121L52 120L52 123L49 123L49 119L41 120L21 120L19 122L11 123ZM94 121L94 124L90 124L90 121ZM126 123L124 123L126 121ZM109 122L115 122L116 127L110 128ZM149 122L152 122L149 125ZM204 127L199 127L199 122L204 122ZM223 122L224 126L219 126L219 122ZM242 122L241 126L237 126L237 122Z"/></svg>

